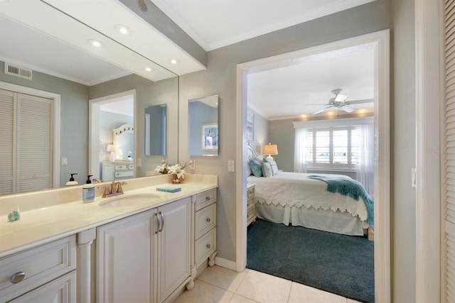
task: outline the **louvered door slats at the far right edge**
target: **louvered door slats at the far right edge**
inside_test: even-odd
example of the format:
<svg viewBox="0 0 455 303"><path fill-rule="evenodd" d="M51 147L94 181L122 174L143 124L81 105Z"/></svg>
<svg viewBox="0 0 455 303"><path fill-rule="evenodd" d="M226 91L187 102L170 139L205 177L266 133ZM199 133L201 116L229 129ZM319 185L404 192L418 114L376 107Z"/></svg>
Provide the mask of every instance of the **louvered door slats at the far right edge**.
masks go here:
<svg viewBox="0 0 455 303"><path fill-rule="evenodd" d="M444 4L444 233L442 302L455 302L455 1Z"/></svg>

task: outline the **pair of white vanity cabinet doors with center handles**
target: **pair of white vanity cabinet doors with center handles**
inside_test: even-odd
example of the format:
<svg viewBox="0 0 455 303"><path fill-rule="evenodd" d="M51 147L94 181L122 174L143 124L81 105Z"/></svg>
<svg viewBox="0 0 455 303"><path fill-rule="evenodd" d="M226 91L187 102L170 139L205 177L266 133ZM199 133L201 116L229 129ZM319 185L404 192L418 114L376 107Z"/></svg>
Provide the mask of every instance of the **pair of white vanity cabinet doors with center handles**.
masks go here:
<svg viewBox="0 0 455 303"><path fill-rule="evenodd" d="M97 228L96 302L164 302L190 270L189 198Z"/></svg>

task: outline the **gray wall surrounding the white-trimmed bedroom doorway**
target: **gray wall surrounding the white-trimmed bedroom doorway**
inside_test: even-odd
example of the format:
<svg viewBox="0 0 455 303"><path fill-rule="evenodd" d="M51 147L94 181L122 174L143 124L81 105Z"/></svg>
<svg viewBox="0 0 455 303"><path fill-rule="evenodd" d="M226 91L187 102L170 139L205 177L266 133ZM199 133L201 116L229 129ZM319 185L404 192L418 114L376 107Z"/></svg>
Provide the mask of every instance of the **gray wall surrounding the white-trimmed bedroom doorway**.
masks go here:
<svg viewBox="0 0 455 303"><path fill-rule="evenodd" d="M410 170L415 162L414 1L376 0L363 6L268 33L208 53L208 68L180 77L180 112L188 99L220 96L218 157L200 157L196 173L218 175L218 256L235 261L235 174L228 160L236 157L236 65L386 28L391 29L391 241L392 302L415 302L415 193ZM393 26L392 26L393 23ZM246 110L246 108L245 108ZM181 116L183 135L185 114ZM270 138L273 140L273 138ZM179 155L188 155L186 136L179 137ZM277 142L279 144L279 141ZM281 154L286 150L279 150ZM277 156L278 157L278 156ZM395 158L395 159L394 159ZM240 160L240 159L236 159ZM406 218L406 220L402 220Z"/></svg>

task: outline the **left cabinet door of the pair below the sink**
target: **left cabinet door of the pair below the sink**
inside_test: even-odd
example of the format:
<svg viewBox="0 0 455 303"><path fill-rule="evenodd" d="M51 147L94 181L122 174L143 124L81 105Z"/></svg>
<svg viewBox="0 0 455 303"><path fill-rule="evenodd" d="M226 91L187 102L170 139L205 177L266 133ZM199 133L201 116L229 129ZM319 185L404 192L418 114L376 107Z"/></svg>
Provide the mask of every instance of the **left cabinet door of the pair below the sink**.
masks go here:
<svg viewBox="0 0 455 303"><path fill-rule="evenodd" d="M96 302L152 302L155 213L97 228Z"/></svg>

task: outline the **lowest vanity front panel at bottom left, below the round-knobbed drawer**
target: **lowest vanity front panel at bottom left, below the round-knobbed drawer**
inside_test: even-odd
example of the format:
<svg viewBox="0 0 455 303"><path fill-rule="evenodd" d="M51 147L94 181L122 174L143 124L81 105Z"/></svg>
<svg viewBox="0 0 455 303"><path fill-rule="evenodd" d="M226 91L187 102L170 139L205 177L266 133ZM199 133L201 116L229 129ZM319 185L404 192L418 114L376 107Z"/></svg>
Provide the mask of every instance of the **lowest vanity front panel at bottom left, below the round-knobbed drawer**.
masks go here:
<svg viewBox="0 0 455 303"><path fill-rule="evenodd" d="M76 303L76 272L70 272L48 282L27 294L23 294L11 303Z"/></svg>

